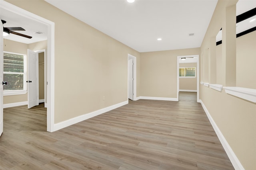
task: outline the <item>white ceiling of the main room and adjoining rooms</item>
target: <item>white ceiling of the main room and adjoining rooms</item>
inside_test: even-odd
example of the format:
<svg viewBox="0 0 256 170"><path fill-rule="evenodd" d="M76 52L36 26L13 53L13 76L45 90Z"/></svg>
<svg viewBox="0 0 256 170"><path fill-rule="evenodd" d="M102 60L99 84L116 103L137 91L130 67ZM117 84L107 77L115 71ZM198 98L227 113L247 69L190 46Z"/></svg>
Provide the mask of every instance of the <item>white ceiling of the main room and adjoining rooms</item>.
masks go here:
<svg viewBox="0 0 256 170"><path fill-rule="evenodd" d="M162 51L200 47L217 0L46 0L46 2L139 51ZM248 3L250 2L250 3ZM239 14L256 7L256 0L240 0ZM22 43L47 39L44 24L18 16L3 8L4 27L23 27L18 35L5 38ZM75 25L74 25L75 26ZM44 34L36 35L33 32ZM194 36L189 36L194 33ZM157 38L162 38L158 41Z"/></svg>

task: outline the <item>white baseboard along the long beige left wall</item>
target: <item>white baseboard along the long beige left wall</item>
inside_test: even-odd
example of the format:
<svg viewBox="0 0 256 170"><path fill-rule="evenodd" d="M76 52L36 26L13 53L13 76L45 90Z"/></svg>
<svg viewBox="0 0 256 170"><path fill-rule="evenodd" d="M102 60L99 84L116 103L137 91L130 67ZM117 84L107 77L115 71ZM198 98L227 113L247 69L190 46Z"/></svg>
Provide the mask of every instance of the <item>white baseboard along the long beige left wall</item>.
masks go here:
<svg viewBox="0 0 256 170"><path fill-rule="evenodd" d="M57 130L62 129L64 127L68 127L70 125L74 125L74 124L76 124L76 123L78 123L80 121L84 121L86 119L90 119L90 118L92 118L94 116L100 115L102 113L106 113L107 111L116 109L116 108L124 106L126 104L128 104L128 100L125 101L125 102L121 102L119 104L115 104L113 106L109 106L109 107L105 107L105 108L100 109L100 110L93 111L91 113L87 113L87 114L84 114L84 115L80 115L78 117L74 117L72 119L68 119L66 121L62 121L60 123L55 123L54 124L54 131L57 131Z"/></svg>

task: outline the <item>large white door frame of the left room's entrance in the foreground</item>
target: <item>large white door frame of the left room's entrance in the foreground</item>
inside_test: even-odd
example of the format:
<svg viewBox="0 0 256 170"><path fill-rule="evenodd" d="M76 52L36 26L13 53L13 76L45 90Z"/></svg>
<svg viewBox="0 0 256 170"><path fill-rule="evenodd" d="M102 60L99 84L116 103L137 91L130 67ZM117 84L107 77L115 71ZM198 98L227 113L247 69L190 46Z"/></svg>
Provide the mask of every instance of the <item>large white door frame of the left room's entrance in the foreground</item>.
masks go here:
<svg viewBox="0 0 256 170"><path fill-rule="evenodd" d="M54 129L54 22L42 18L36 14L28 12L22 8L14 6L6 1L0 0L1 7L10 12L16 13L20 16L24 16L31 20L35 20L44 23L48 26L47 37L47 131L53 132ZM2 31L0 32L2 34Z"/></svg>

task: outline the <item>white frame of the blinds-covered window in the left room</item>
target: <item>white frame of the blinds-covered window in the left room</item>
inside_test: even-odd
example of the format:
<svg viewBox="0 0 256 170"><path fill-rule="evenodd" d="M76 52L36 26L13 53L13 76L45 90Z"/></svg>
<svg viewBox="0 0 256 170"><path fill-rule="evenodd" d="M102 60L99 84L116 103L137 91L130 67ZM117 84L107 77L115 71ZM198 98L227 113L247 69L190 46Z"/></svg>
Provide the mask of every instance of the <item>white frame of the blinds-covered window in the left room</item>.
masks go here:
<svg viewBox="0 0 256 170"><path fill-rule="evenodd" d="M14 54L14 55L23 55L23 68L24 68L24 72L17 72L17 73L3 72L3 74L23 74L23 90L3 90L3 96L26 94L27 93L27 83L26 83L26 80L27 80L27 55L20 54L20 53L13 53L13 52L9 52L9 51L3 51L3 53Z"/></svg>

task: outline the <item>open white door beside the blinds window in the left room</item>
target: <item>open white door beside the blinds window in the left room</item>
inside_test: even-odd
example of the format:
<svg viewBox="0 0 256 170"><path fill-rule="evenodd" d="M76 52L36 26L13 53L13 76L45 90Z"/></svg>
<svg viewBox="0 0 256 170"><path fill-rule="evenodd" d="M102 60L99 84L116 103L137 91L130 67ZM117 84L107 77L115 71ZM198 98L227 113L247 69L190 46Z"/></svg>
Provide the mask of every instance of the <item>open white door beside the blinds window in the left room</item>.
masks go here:
<svg viewBox="0 0 256 170"><path fill-rule="evenodd" d="M39 105L38 92L38 58L36 52L28 49L28 108Z"/></svg>

